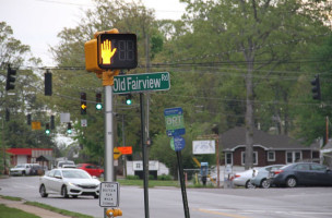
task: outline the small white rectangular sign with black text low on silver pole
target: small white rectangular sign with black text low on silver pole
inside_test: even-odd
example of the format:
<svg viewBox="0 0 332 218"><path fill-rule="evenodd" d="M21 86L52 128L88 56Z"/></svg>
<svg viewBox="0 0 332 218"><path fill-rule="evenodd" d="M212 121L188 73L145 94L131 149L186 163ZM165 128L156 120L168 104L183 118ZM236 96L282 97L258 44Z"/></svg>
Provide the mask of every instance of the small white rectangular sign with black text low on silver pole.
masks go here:
<svg viewBox="0 0 332 218"><path fill-rule="evenodd" d="M100 207L118 207L119 206L119 183L118 182L102 182L99 194Z"/></svg>

